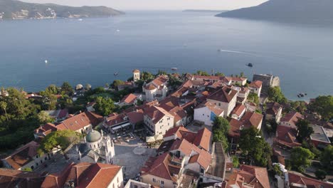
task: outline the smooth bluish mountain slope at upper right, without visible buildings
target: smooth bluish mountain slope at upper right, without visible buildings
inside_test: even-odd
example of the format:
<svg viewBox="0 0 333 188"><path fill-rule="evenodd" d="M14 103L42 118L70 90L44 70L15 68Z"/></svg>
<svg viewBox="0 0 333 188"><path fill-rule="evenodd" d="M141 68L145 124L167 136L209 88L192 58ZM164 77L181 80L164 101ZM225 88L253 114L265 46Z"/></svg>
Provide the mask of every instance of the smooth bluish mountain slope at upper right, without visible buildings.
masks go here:
<svg viewBox="0 0 333 188"><path fill-rule="evenodd" d="M333 24L333 0L270 0L216 16L290 23Z"/></svg>

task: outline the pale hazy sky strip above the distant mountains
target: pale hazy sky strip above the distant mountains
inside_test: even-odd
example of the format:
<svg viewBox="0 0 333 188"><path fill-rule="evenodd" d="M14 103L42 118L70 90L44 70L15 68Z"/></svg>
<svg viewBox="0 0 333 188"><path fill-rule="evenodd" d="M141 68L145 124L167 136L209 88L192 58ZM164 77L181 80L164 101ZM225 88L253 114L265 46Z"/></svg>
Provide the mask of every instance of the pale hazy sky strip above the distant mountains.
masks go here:
<svg viewBox="0 0 333 188"><path fill-rule="evenodd" d="M120 10L154 9L211 9L231 10L256 6L267 0L21 0L36 3L55 3L69 6L110 6Z"/></svg>

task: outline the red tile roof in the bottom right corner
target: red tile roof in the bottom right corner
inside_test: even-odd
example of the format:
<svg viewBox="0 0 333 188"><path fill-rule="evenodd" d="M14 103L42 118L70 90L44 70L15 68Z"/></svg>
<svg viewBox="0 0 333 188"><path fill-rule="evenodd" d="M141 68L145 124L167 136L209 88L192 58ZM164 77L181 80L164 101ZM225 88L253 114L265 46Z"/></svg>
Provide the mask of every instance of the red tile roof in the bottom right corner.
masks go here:
<svg viewBox="0 0 333 188"><path fill-rule="evenodd" d="M322 182L317 179L312 179L309 177L303 177L292 172L288 172L290 187L295 186L295 184L300 184L307 187L320 187L320 188L332 188L333 184L328 182ZM296 186L295 186L296 187Z"/></svg>

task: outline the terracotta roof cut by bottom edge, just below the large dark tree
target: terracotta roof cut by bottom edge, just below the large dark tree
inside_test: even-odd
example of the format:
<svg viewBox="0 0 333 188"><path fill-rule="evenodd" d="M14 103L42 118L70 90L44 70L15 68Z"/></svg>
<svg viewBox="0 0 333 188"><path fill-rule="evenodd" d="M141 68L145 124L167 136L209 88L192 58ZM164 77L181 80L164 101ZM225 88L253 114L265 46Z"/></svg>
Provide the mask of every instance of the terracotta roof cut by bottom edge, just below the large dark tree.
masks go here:
<svg viewBox="0 0 333 188"><path fill-rule="evenodd" d="M239 169L233 169L233 173L228 179L228 185L235 184L238 187L243 187L244 183L255 188L270 187L267 169L249 165L240 165Z"/></svg>

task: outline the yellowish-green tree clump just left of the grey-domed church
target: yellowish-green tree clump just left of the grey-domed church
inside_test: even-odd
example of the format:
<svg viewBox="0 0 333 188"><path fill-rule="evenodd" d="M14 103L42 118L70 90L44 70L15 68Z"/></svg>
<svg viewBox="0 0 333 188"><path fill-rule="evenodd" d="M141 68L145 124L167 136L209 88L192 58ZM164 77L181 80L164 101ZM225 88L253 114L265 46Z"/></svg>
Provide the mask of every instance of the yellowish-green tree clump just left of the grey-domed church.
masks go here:
<svg viewBox="0 0 333 188"><path fill-rule="evenodd" d="M51 132L41 141L38 148L38 154L48 153L53 148L65 150L71 143L80 141L80 133L73 130L58 130Z"/></svg>

